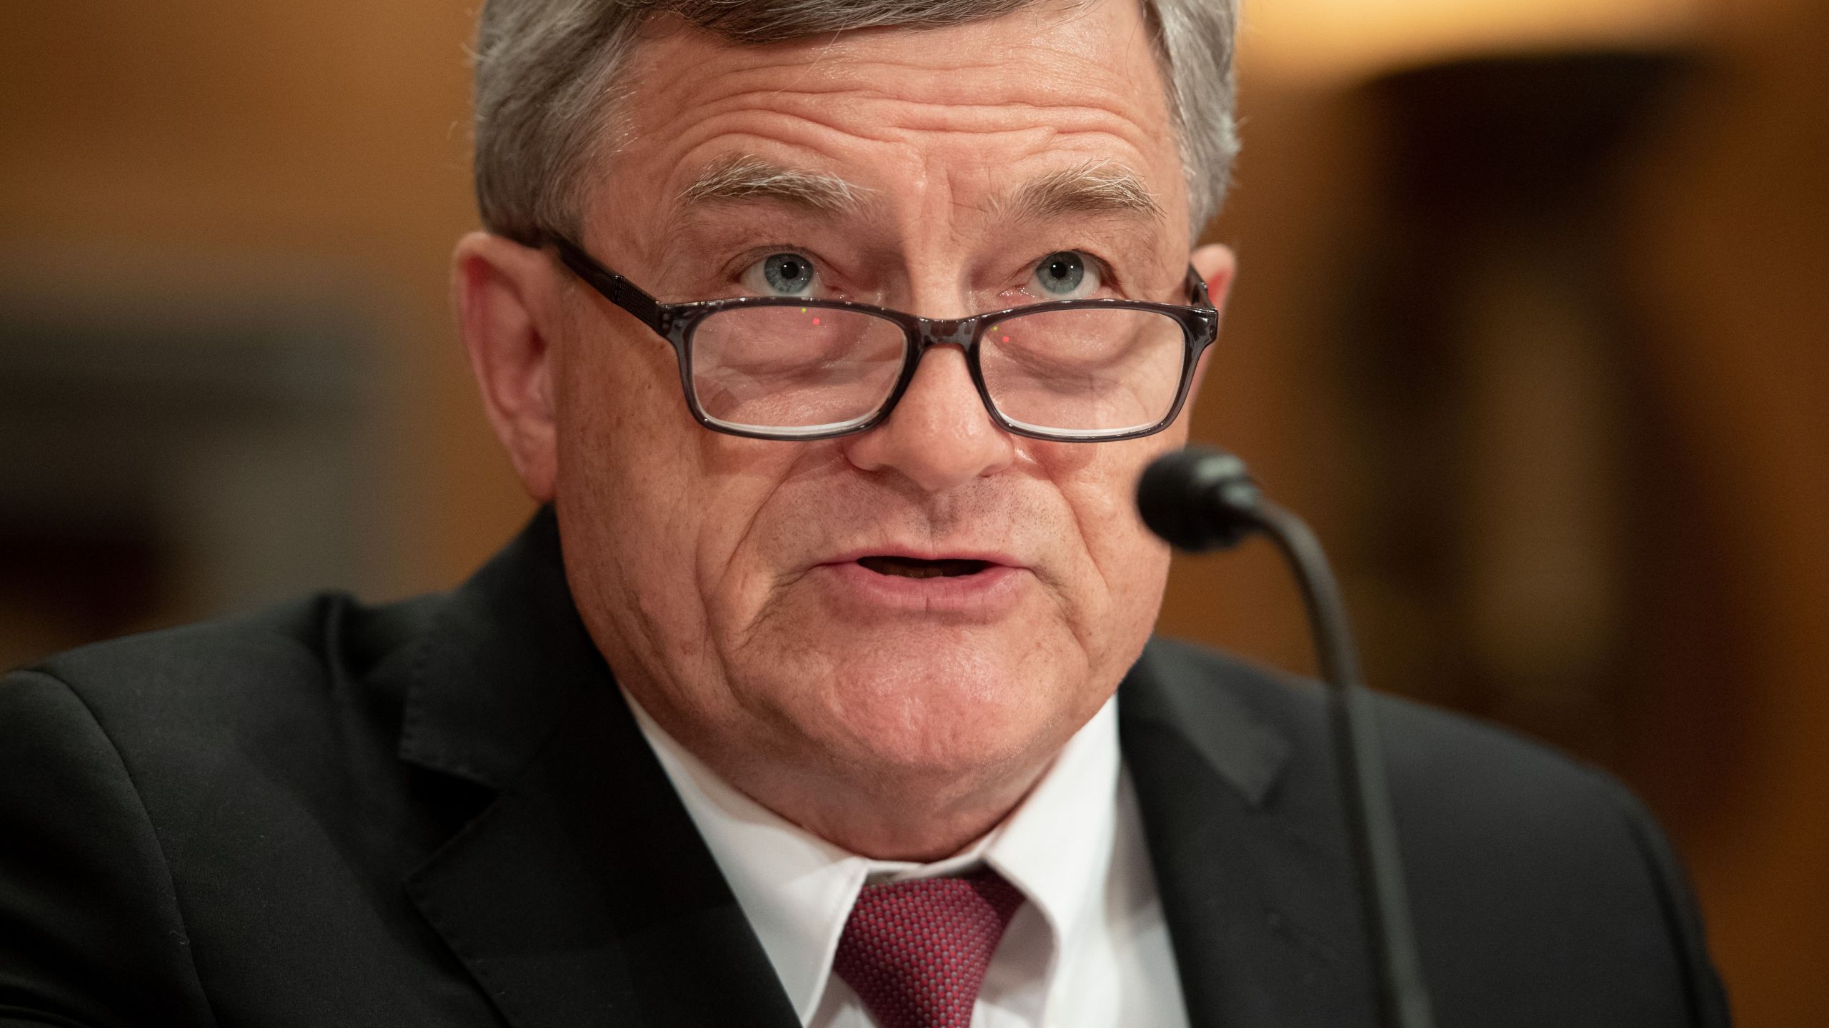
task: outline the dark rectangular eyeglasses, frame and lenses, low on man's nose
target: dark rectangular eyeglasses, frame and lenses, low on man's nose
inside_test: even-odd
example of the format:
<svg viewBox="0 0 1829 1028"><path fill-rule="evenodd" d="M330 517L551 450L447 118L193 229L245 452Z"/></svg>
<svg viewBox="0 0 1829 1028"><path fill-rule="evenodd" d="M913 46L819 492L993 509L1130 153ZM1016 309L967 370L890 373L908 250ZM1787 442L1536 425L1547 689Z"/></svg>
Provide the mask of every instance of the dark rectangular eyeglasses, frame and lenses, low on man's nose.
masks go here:
<svg viewBox="0 0 1829 1028"><path fill-rule="evenodd" d="M1174 423L1220 324L1194 269L1193 305L1050 300L920 318L794 296L662 304L565 236L547 240L585 285L673 344L699 424L752 439L876 428L935 346L964 351L984 408L1006 432L1066 443L1138 439Z"/></svg>

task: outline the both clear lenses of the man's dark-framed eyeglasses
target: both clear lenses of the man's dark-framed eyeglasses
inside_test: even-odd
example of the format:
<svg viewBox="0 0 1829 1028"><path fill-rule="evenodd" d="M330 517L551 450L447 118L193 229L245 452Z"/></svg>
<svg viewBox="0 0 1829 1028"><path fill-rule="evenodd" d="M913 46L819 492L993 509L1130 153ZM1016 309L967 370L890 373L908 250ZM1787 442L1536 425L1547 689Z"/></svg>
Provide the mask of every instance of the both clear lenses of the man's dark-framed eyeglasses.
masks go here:
<svg viewBox="0 0 1829 1028"><path fill-rule="evenodd" d="M715 423L823 434L871 421L902 375L900 324L832 307L733 307L691 340L691 384ZM1167 417L1182 384L1182 324L1158 311L1017 313L979 344L999 413L1033 432L1118 435Z"/></svg>

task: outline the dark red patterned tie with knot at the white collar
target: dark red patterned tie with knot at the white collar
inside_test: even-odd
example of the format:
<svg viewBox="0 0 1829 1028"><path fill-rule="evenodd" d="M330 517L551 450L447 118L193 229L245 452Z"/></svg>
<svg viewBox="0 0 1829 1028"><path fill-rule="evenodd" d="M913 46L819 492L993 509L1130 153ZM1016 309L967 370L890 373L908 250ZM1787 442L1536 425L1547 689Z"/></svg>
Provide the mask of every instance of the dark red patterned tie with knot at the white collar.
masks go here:
<svg viewBox="0 0 1829 1028"><path fill-rule="evenodd" d="M832 969L882 1028L969 1028L971 1006L1022 893L989 867L865 885Z"/></svg>

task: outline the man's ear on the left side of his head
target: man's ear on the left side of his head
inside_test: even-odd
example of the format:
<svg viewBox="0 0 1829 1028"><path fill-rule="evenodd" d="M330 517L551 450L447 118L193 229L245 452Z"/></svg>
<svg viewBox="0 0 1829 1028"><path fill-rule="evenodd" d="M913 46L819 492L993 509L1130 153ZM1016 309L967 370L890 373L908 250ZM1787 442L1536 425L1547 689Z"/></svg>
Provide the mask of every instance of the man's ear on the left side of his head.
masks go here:
<svg viewBox="0 0 1829 1028"><path fill-rule="evenodd" d="M470 232L452 254L452 302L496 437L540 503L558 481L551 331L558 289L547 254Z"/></svg>

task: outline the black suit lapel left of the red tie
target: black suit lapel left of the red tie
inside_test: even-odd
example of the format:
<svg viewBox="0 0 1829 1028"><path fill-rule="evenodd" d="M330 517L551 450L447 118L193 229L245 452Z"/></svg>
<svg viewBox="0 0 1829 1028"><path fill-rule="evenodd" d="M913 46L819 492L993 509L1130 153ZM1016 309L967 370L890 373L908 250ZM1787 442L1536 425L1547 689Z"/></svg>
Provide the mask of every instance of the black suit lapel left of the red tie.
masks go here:
<svg viewBox="0 0 1829 1028"><path fill-rule="evenodd" d="M797 1024L571 605L551 512L426 633L401 755L496 792L406 889L510 1024Z"/></svg>

